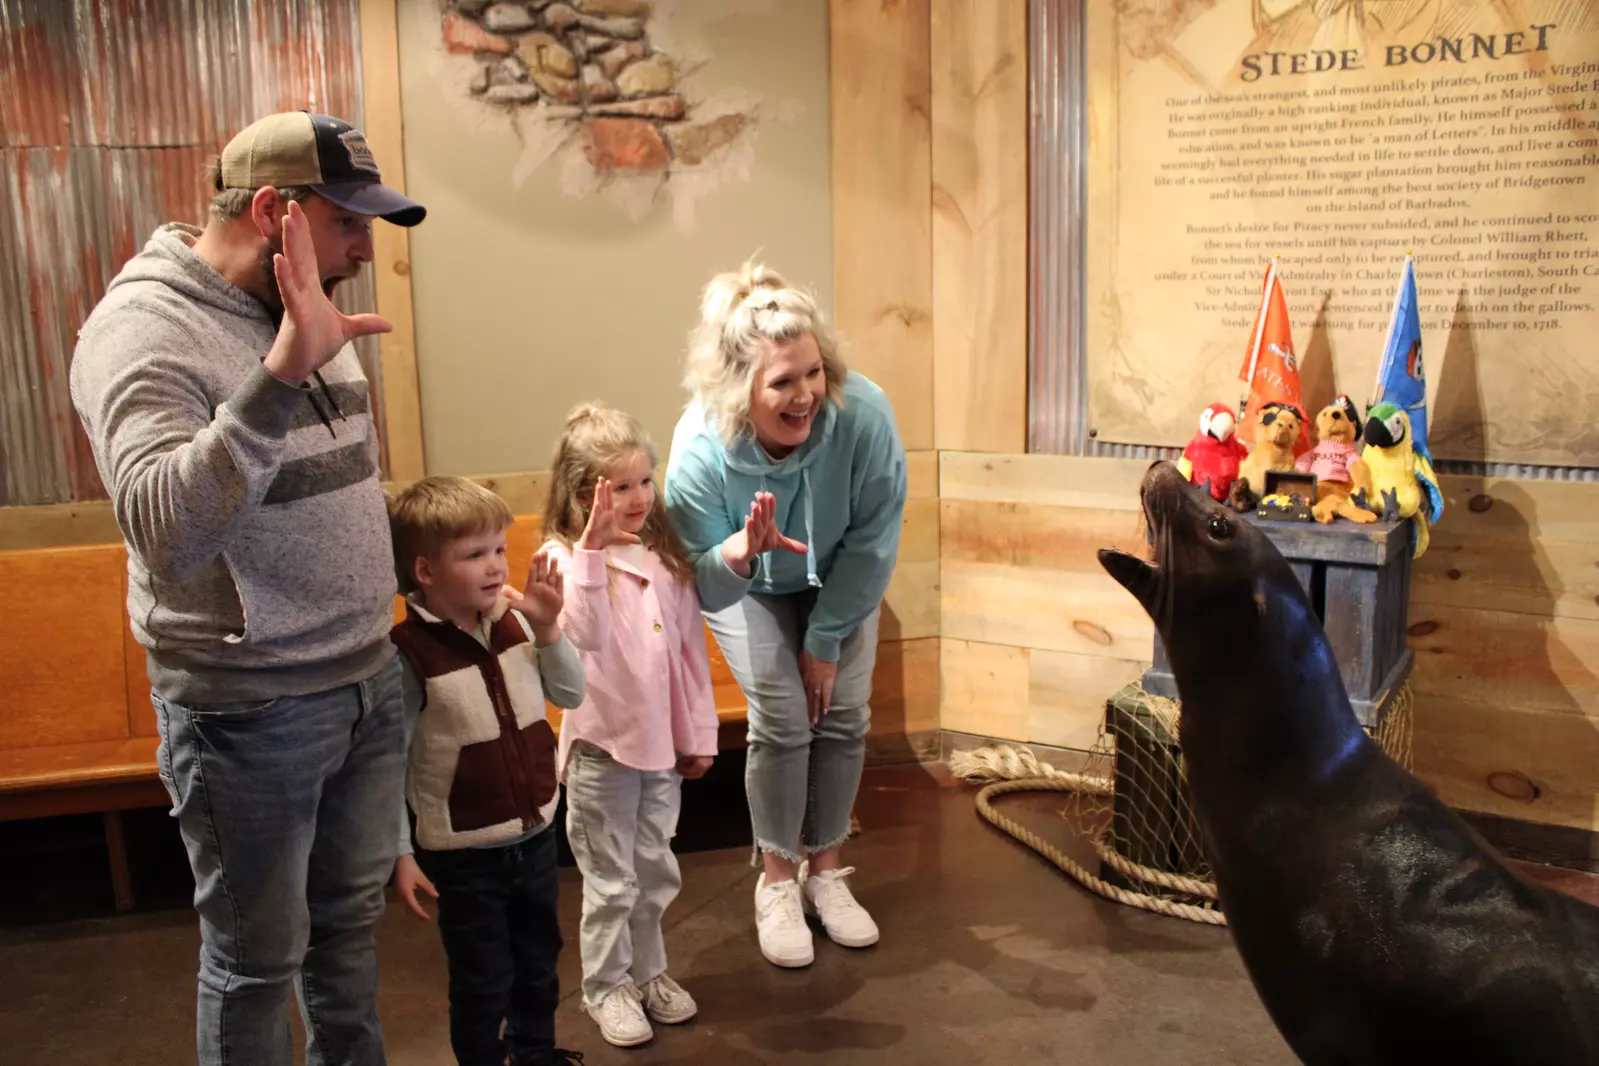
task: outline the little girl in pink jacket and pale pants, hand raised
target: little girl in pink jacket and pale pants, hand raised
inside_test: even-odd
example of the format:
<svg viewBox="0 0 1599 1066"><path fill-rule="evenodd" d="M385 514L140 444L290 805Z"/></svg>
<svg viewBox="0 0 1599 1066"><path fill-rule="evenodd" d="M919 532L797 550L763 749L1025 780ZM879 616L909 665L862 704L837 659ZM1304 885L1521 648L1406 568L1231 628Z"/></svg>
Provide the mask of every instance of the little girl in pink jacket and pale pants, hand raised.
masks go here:
<svg viewBox="0 0 1599 1066"><path fill-rule="evenodd" d="M683 778L716 754L705 623L644 427L580 406L552 467L545 548L566 585L560 625L588 678L556 753L584 874L584 1008L606 1040L635 1047L654 1036L651 1018L696 1012L667 977L660 916L683 884L672 853Z"/></svg>

